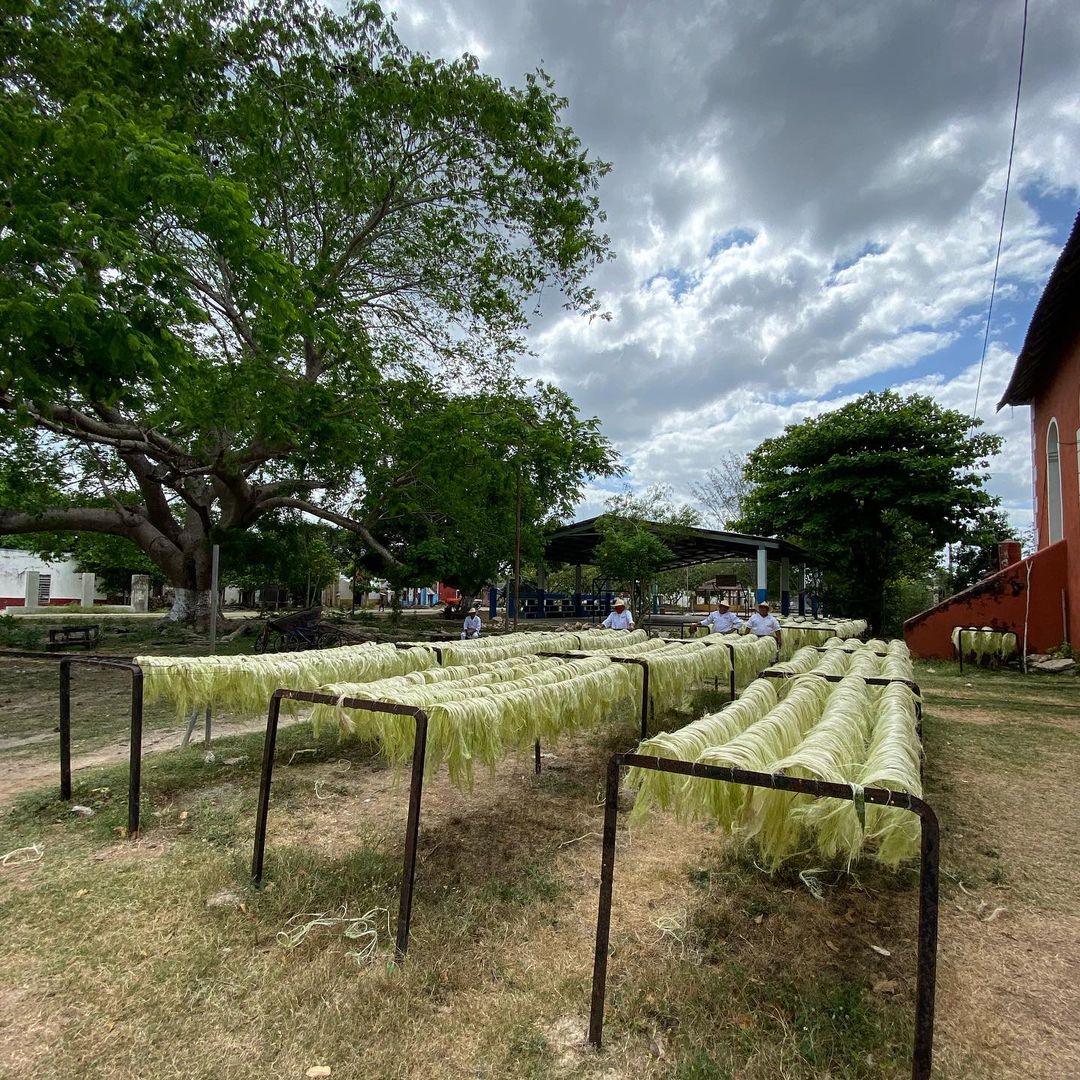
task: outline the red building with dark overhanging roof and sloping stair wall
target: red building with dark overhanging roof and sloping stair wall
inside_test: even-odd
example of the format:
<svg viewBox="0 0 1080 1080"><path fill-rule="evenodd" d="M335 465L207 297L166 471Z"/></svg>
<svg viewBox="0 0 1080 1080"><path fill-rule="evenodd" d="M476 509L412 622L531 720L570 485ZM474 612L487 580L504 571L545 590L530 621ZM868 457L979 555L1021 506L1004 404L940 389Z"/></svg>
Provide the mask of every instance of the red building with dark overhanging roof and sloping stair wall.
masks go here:
<svg viewBox="0 0 1080 1080"><path fill-rule="evenodd" d="M1031 407L1036 552L904 624L918 657L951 653L954 626L1012 630L1027 651L1080 648L1080 215L998 403Z"/></svg>

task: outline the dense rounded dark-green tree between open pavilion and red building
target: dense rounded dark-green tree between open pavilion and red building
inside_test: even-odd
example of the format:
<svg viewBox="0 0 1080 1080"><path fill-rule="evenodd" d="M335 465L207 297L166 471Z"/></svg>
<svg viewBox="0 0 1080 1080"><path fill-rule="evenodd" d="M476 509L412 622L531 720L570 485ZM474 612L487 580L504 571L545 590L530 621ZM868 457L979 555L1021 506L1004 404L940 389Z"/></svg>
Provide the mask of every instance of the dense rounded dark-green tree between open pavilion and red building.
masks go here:
<svg viewBox="0 0 1080 1080"><path fill-rule="evenodd" d="M806 545L834 607L883 622L885 596L917 577L994 504L1001 440L929 397L868 393L792 424L747 459L740 527Z"/></svg>

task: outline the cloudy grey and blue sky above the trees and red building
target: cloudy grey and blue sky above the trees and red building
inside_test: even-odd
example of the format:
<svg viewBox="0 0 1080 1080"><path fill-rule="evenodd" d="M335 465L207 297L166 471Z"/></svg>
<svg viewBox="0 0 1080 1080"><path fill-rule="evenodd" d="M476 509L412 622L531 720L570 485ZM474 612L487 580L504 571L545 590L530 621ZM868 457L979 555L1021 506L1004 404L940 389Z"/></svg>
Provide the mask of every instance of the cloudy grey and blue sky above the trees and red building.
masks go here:
<svg viewBox="0 0 1080 1080"><path fill-rule="evenodd" d="M627 475L692 487L719 454L868 390L975 407L1023 0L396 0L413 49L538 66L611 163L611 320L551 305L521 372L603 420ZM991 490L1030 524L1028 409L996 411L1080 210L1080 17L1032 0L977 413Z"/></svg>

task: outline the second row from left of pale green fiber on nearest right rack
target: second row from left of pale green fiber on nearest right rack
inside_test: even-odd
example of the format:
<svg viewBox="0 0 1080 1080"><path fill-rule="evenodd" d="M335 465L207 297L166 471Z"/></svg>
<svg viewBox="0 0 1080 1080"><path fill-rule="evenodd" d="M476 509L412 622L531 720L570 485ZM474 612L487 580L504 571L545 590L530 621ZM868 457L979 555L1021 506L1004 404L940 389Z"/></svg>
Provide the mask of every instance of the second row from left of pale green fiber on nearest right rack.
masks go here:
<svg viewBox="0 0 1080 1080"><path fill-rule="evenodd" d="M798 675L784 700L732 739L703 751L698 761L726 768L766 772L769 764L789 754L821 716L832 685L813 675ZM711 818L725 828L741 823L750 788L723 781L688 777L674 804L680 815Z"/></svg>

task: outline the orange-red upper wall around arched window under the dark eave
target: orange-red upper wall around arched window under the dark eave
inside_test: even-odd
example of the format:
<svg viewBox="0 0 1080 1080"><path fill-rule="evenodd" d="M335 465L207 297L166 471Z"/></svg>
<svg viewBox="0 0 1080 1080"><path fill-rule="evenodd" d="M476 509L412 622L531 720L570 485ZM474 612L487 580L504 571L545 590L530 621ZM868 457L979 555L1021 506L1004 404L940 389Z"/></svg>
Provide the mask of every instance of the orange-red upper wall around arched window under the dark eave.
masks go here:
<svg viewBox="0 0 1080 1080"><path fill-rule="evenodd" d="M1040 549L1050 543L1050 503L1047 435L1057 421L1062 488L1062 530L1067 546L1066 594L1069 643L1080 646L1080 338L1057 365L1053 379L1036 397L1031 409L1035 459L1035 527Z"/></svg>

